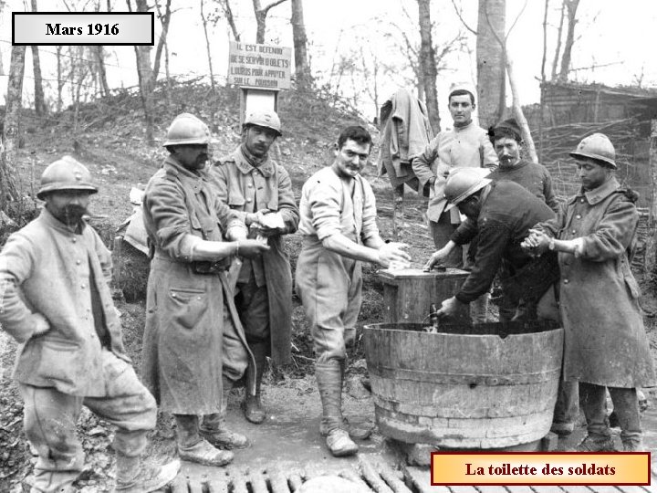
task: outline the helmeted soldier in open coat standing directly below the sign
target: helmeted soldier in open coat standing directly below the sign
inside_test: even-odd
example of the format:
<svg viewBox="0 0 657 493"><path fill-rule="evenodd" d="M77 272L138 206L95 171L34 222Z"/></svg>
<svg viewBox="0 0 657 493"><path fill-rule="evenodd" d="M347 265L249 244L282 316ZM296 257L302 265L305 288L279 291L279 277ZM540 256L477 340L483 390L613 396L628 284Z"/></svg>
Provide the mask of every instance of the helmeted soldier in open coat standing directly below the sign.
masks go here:
<svg viewBox="0 0 657 493"><path fill-rule="evenodd" d="M290 361L292 330L292 271L283 236L297 231L299 213L286 169L269 155L281 135L275 111L249 113L243 125L242 143L212 167L219 199L249 227L251 236L263 236L271 249L246 259L239 272L235 305L245 327L246 341L254 354L255 371L242 404L251 423L262 423L266 411L261 383L266 357L275 364Z"/></svg>

